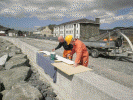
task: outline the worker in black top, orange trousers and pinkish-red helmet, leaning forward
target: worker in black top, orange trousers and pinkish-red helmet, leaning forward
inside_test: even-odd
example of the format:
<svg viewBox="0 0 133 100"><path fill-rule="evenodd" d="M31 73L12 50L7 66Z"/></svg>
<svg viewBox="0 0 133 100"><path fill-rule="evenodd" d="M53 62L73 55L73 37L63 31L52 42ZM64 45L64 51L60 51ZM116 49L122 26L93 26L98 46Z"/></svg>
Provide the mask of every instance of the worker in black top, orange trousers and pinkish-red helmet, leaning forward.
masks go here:
<svg viewBox="0 0 133 100"><path fill-rule="evenodd" d="M59 41L58 46L55 49L52 49L52 51L55 51L63 46L64 47L63 57L72 60L72 56L67 57L67 54L72 51L73 45L72 44L67 45L67 42L64 40L63 36L59 36L58 41Z"/></svg>

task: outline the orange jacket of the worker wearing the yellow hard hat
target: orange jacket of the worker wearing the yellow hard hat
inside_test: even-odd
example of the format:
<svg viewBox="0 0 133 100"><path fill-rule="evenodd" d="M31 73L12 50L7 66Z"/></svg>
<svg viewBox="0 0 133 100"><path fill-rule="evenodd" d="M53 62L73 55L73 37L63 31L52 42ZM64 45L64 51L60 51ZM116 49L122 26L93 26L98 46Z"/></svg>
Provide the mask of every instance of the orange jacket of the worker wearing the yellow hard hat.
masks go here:
<svg viewBox="0 0 133 100"><path fill-rule="evenodd" d="M89 53L87 51L85 44L78 39L75 39L73 49L70 54L73 55L75 52L76 52L75 63L80 63L81 59L89 56Z"/></svg>

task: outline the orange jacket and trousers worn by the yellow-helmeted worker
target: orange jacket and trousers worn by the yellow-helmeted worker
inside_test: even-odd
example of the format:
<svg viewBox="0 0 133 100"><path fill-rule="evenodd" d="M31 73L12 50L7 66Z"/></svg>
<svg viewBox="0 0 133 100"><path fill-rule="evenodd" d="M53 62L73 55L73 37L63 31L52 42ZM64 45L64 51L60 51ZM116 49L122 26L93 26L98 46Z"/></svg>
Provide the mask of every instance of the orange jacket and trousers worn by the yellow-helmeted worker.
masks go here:
<svg viewBox="0 0 133 100"><path fill-rule="evenodd" d="M85 44L78 39L74 40L73 49L70 54L73 55L75 52L76 52L75 63L88 67L89 53L87 51Z"/></svg>

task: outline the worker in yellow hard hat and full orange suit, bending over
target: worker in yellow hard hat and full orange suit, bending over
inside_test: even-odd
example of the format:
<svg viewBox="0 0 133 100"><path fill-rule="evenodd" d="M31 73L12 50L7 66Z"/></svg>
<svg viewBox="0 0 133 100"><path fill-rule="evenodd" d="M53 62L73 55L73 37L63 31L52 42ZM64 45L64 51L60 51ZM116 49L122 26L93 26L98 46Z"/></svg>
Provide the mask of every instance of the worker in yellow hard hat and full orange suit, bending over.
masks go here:
<svg viewBox="0 0 133 100"><path fill-rule="evenodd" d="M67 45L73 45L73 49L68 56L73 56L73 54L76 52L76 59L73 66L77 67L79 64L88 67L89 53L85 44L78 39L73 39L72 35L67 35L65 41L67 42Z"/></svg>

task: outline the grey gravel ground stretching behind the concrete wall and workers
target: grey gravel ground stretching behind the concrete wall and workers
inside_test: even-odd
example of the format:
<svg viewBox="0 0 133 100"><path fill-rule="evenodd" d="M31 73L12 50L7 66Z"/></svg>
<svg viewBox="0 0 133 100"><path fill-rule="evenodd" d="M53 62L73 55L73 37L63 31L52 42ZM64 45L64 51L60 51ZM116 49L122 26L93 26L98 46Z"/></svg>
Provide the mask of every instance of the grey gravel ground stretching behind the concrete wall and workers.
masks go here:
<svg viewBox="0 0 133 100"><path fill-rule="evenodd" d="M39 49L51 51L58 45L58 42L49 41L49 40L41 40L41 39L30 39L30 38L20 38L21 41L24 41L32 46L35 46ZM56 54L62 56L64 49L56 50ZM127 54L125 54L127 55ZM76 57L74 54L73 61ZM116 81L120 84L133 88L132 85L128 84L129 82L133 82L133 61L129 57L126 56L110 56L104 57L100 56L98 58L92 58L89 56L89 66L93 69L93 72L99 74L103 77ZM110 72L111 70L111 72ZM119 79L116 76L121 76ZM114 76L114 77L113 77ZM128 80L125 80L128 78Z"/></svg>

